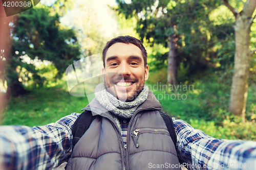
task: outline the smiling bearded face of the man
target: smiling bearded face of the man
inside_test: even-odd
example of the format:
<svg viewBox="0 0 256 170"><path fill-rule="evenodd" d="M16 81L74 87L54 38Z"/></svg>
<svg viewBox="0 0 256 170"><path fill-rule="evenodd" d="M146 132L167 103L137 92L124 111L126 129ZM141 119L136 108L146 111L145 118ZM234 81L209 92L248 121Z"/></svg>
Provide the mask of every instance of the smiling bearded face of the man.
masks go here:
<svg viewBox="0 0 256 170"><path fill-rule="evenodd" d="M144 67L141 50L134 44L115 43L105 56L102 68L108 91L121 101L133 101L148 79L148 65Z"/></svg>

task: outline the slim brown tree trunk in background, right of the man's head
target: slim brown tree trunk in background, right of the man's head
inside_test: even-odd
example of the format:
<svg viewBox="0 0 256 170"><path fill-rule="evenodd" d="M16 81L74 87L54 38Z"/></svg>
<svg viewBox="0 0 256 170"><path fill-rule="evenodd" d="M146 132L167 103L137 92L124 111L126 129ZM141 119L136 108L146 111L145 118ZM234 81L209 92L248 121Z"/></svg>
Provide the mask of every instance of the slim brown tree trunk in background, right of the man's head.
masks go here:
<svg viewBox="0 0 256 170"><path fill-rule="evenodd" d="M175 36L168 37L169 53L168 53L168 72L167 72L167 84L177 84L177 51Z"/></svg>

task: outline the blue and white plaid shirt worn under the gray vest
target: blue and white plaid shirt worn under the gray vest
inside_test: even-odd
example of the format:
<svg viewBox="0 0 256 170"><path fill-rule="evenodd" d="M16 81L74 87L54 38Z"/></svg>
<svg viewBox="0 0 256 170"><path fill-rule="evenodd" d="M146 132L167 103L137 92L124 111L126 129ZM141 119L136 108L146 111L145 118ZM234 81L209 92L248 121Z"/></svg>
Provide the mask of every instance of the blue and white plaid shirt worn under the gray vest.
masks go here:
<svg viewBox="0 0 256 170"><path fill-rule="evenodd" d="M52 169L67 161L72 152L71 129L78 115L72 113L46 126L0 127L0 167ZM173 121L178 155L189 163L188 168L256 169L255 141L216 139L183 120L173 118ZM127 128L127 125L121 126ZM122 136L125 135L122 132Z"/></svg>

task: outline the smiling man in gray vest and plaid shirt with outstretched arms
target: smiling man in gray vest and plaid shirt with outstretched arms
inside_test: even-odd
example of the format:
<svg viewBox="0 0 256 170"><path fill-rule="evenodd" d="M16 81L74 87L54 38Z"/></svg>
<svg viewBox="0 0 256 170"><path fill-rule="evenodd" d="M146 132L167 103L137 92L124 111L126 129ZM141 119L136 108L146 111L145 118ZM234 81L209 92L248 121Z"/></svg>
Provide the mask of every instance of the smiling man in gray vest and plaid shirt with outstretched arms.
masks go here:
<svg viewBox="0 0 256 170"><path fill-rule="evenodd" d="M256 169L256 142L212 138L175 118L174 145L160 103L144 86L146 57L136 38L109 41L102 53L104 84L82 109L97 115L74 149L78 113L41 127L1 127L0 164L51 169L68 161L67 169L179 169L179 157L189 169Z"/></svg>

